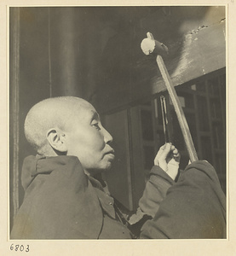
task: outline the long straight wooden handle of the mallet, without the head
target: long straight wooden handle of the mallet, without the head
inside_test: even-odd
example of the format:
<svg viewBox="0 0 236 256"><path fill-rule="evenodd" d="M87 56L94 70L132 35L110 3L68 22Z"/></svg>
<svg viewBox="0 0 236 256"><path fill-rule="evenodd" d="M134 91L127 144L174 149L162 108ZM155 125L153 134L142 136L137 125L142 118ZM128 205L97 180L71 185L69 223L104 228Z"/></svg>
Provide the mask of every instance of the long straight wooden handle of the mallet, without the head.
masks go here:
<svg viewBox="0 0 236 256"><path fill-rule="evenodd" d="M179 120L179 124L181 126L182 135L183 135L184 141L186 143L189 159L191 160L191 162L199 160L198 155L197 155L196 150L193 145L193 139L191 137L191 133L190 133L188 125L187 125L187 120L185 118L185 114L183 113L183 110L181 108L181 102L180 102L178 96L176 95L176 90L174 88L174 85L172 84L170 75L164 65L162 56L158 55L156 61L158 63L160 73L162 74L162 77L164 79L164 84L170 94L170 99L174 105L177 119Z"/></svg>

